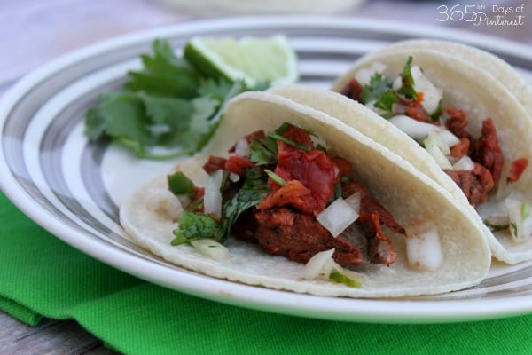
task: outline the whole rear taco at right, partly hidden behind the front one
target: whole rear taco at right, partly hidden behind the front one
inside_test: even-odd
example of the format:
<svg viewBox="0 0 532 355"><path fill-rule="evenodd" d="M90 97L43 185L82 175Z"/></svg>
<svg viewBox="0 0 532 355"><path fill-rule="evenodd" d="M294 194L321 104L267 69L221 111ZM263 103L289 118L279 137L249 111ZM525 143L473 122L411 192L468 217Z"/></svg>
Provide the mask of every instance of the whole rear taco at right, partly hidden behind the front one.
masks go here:
<svg viewBox="0 0 532 355"><path fill-rule="evenodd" d="M532 119L493 75L442 51L409 48L357 60L332 89L386 118L363 123L344 114L344 122L363 123L364 134L473 205L497 259L532 259Z"/></svg>

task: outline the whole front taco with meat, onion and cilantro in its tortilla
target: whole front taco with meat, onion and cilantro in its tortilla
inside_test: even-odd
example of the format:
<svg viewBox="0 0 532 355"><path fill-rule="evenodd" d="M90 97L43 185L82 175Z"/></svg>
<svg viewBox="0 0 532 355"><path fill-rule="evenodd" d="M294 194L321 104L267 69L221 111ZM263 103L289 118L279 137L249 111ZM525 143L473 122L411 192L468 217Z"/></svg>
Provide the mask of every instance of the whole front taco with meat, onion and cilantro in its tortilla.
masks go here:
<svg viewBox="0 0 532 355"><path fill-rule="evenodd" d="M232 99L205 150L140 187L120 217L170 263L319 296L447 292L479 283L491 259L440 185L328 114L265 92Z"/></svg>

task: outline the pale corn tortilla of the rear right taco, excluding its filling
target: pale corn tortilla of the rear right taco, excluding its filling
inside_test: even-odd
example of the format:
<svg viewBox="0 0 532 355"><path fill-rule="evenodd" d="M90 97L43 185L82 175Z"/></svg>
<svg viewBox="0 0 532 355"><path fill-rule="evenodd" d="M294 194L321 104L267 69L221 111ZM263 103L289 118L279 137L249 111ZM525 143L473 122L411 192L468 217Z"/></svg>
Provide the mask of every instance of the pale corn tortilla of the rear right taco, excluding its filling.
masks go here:
<svg viewBox="0 0 532 355"><path fill-rule="evenodd" d="M333 84L332 90L340 91L348 83L348 80L355 75L356 71L363 67L369 67L374 61L379 61L387 66L386 75L398 75L403 70L404 63L409 56L413 58L412 65L421 67L426 77L436 87L444 91L442 102L444 107L457 106L467 112L468 130L473 134L473 137L480 136L481 122L489 117L497 128L497 138L505 156L505 165L503 166L497 191L492 192L489 196L489 201L482 204L480 209L477 209L481 213L481 217L489 217L488 212L485 213L483 211L489 211L491 207L496 205L497 201L503 201L510 195L521 201L532 201L532 189L529 187L532 184L531 167L524 171L517 182L506 183L514 160L527 158L528 162L532 163L532 145L530 145L530 141L532 141L532 118L505 85L487 71L442 51L421 48L381 51L357 60ZM309 104L307 101L310 102L310 99L301 102ZM354 102L350 99L348 101ZM343 106L348 106L348 101L342 100L341 102L345 103ZM333 103L330 104L330 106L334 105ZM325 108L321 107L321 109ZM341 108L336 107L335 109L341 111ZM327 112L331 114L330 110ZM428 177L437 181L448 191L452 188L450 185L452 180L442 171L438 174L437 164L432 157L391 123L382 118L380 120L366 120L363 123L356 122L357 120L353 117L348 117L348 114L335 115L339 118L343 116L344 122L355 126L357 129L360 129L360 126L364 124L364 134L368 135L368 137L387 146L404 159L415 164L420 171L426 173ZM383 126L387 127L387 131L392 131L393 133L381 135L379 128ZM412 154L411 152L415 150L417 152ZM425 155L425 157L420 158L420 154ZM463 198L458 197L461 191L457 185L455 186L458 191L456 193L451 191L451 193L458 198L460 203L464 204L465 196ZM508 264L532 260L532 239L516 243L512 241L509 231L491 233L487 227L485 227L485 233L489 239L493 255L498 260Z"/></svg>

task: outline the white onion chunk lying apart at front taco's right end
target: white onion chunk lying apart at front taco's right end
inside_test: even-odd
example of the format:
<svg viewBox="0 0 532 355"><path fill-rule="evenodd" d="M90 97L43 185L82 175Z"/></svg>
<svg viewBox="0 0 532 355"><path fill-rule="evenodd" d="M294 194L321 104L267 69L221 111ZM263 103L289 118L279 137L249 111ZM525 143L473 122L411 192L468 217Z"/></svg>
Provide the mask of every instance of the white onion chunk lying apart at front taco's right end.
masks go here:
<svg viewBox="0 0 532 355"><path fill-rule="evenodd" d="M434 271L443 261L438 228L431 221L406 226L406 256L411 267Z"/></svg>

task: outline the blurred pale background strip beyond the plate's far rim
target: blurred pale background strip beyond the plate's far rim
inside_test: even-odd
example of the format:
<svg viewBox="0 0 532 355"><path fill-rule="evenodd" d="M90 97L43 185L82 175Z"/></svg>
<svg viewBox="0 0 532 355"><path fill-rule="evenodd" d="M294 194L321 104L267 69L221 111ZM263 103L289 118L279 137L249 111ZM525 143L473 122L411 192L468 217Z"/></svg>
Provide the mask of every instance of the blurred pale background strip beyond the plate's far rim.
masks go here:
<svg viewBox="0 0 532 355"><path fill-rule="evenodd" d="M532 45L530 0L0 0L0 94L68 51L144 28L212 16L306 13L462 28ZM473 18L476 16L476 19Z"/></svg>

